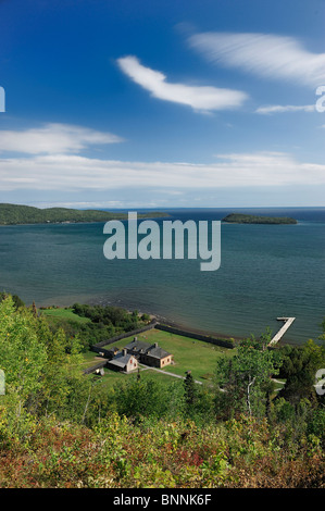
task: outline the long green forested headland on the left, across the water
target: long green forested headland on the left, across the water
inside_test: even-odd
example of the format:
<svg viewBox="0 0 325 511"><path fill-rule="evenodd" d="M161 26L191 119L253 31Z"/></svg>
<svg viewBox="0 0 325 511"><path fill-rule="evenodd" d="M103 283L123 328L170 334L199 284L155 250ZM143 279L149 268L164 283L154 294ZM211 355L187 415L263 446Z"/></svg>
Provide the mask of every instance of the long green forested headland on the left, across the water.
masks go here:
<svg viewBox="0 0 325 511"><path fill-rule="evenodd" d="M162 212L138 214L139 219L167 216ZM126 220L126 213L100 210L75 210L67 208L39 209L32 205L0 203L0 225L45 224L61 222L108 222L109 220Z"/></svg>

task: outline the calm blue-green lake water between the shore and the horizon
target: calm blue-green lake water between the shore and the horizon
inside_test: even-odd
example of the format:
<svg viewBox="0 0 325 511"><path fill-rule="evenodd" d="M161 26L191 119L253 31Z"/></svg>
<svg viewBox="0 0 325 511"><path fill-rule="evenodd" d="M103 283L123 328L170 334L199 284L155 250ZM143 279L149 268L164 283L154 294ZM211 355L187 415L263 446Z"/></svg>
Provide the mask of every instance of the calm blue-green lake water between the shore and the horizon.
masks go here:
<svg viewBox="0 0 325 511"><path fill-rule="evenodd" d="M236 210L165 211L199 221ZM284 339L316 339L325 316L325 208L239 211L290 215L299 224L223 224L216 272L200 272L199 260L108 261L102 223L2 226L0 288L26 303L121 304L230 336L267 326L275 333L277 316L296 316Z"/></svg>

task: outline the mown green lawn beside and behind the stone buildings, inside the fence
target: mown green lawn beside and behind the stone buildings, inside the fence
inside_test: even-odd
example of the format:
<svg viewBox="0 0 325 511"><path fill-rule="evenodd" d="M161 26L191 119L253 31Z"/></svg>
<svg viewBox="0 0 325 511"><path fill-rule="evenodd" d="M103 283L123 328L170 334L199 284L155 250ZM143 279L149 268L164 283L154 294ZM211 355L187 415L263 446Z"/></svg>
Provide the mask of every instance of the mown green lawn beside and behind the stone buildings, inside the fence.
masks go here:
<svg viewBox="0 0 325 511"><path fill-rule="evenodd" d="M158 342L159 346L174 356L174 364L164 367L166 373L175 373L185 376L186 371L191 371L195 379L209 382L215 370L216 360L221 356L232 357L236 349L222 348L210 342L190 339L179 335L159 329L143 332L138 336L146 342ZM114 347L123 348L133 340L132 337L114 342ZM111 346L112 347L112 346ZM157 373L155 374L161 374Z"/></svg>

